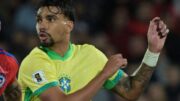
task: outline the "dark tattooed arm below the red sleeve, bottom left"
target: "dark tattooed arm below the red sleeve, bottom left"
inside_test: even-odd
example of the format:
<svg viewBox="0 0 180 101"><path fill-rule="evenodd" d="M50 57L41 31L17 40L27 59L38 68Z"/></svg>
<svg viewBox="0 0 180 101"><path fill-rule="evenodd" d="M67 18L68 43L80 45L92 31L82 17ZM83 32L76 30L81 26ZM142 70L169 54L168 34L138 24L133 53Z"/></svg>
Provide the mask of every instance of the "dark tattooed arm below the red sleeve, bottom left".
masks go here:
<svg viewBox="0 0 180 101"><path fill-rule="evenodd" d="M21 101L21 89L20 85L18 84L17 80L7 86L4 92L5 101Z"/></svg>

